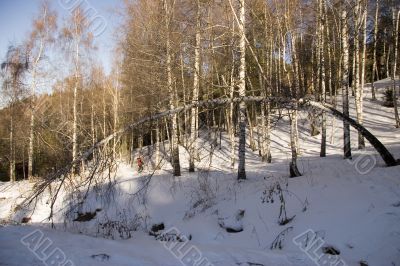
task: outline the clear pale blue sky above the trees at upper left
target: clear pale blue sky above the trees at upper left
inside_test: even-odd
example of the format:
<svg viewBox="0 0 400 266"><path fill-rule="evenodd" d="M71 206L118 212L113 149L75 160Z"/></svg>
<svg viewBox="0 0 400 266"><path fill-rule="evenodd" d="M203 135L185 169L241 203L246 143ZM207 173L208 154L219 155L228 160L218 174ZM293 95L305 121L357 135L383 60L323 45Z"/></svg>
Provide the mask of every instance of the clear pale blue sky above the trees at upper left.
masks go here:
<svg viewBox="0 0 400 266"><path fill-rule="evenodd" d="M68 4L82 4L92 7L107 22L106 30L96 37L95 44L99 48L98 59L103 63L106 72L110 71L112 61L111 50L114 46L114 32L118 25L118 16L113 10L122 6L121 0L50 0L57 11L59 23L68 17ZM7 47L11 43L21 43L27 36L32 18L38 13L40 0L0 0L0 59L3 60ZM85 8L84 8L85 9ZM59 24L61 25L61 24Z"/></svg>

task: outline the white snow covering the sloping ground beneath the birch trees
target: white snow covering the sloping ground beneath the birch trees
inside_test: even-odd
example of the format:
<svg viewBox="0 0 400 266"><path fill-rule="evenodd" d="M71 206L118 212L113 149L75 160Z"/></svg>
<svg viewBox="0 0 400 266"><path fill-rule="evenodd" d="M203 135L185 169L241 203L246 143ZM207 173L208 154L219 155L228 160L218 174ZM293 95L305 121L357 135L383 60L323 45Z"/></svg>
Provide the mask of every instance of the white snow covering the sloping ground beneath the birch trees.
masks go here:
<svg viewBox="0 0 400 266"><path fill-rule="evenodd" d="M377 83L378 100L388 84L389 80ZM395 158L400 158L400 130L394 128L393 110L383 107L381 101L370 101L369 90L366 86L364 125ZM350 102L354 103L354 99ZM351 108L354 117L354 104ZM328 140L332 137L333 142L328 143L328 157L320 158L320 136L310 136L307 114L300 115L298 165L303 176L294 179L288 178L289 124L282 119L273 131L273 163L262 163L258 152L248 149L248 179L244 182L238 183L236 170L229 167L227 136L223 136L220 149L211 146L204 134L199 143L204 158L197 165L199 171L187 172L188 154L181 148L182 177L172 177L171 166L164 160L162 170L151 177L148 188L135 193L146 184L151 169L138 175L135 168L121 162L114 190L99 184L79 208L67 204L69 195L61 192L55 205L55 229L47 220L48 191L38 200L33 214L15 215L12 210L32 184L0 183L0 219L7 222L0 227L0 265L51 265L21 242L36 229L51 240L50 251L59 248L74 265L192 265L185 262L188 255L170 248L179 242L160 242L148 235L151 226L158 223L191 239L184 242L187 246L182 250L197 248L210 265L324 265L323 260L314 262L312 255L293 242L307 230L316 232L324 246L340 251L335 257L337 262L341 259L345 265L354 266L361 261L368 265L400 265L400 166L385 167L369 143L365 150L357 150L354 130L353 160L343 160L342 122L336 121L332 127L332 118L328 119L327 131ZM278 224L281 203L276 189L273 203L263 202L277 183L282 188L287 217L294 216L286 225ZM64 219L66 213L76 218L74 211L96 209L101 210L88 222ZM243 218L236 219L239 210L245 212ZM13 221L20 222L24 214L32 214L28 215L31 220L27 225L12 225ZM221 219L229 226L243 226L243 231L228 233L220 226ZM104 229L102 226L110 221L125 231L120 234L110 223ZM282 249L270 250L285 230Z"/></svg>

